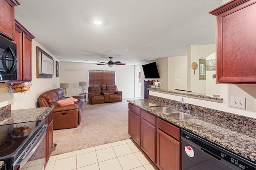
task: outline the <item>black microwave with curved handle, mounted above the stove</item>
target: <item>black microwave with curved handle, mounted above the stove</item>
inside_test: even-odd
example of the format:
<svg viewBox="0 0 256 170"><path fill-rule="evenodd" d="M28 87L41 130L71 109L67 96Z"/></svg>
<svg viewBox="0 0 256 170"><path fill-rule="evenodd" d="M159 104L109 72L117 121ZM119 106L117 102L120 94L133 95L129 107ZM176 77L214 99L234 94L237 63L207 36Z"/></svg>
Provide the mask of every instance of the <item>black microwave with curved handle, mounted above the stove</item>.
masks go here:
<svg viewBox="0 0 256 170"><path fill-rule="evenodd" d="M17 79L16 44L0 36L0 82Z"/></svg>

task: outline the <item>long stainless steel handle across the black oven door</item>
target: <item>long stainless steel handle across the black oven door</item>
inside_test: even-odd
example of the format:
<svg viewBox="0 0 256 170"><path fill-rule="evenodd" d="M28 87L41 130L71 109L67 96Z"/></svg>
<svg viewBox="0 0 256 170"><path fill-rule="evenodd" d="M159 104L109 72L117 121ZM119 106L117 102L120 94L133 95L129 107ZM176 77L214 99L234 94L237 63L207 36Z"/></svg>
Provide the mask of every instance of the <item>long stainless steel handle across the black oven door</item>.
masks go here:
<svg viewBox="0 0 256 170"><path fill-rule="evenodd" d="M40 143L42 142L42 140L44 139L44 137L46 135L47 127L48 127L48 125L44 125L40 129L41 134L39 136L38 136L38 133L36 134L36 136L35 136L36 141L34 141L34 139L32 139L32 142L34 141L32 146L29 149L26 148L20 154L20 156L17 158L17 160L14 162L13 166L14 166L15 170L18 169L18 168L22 168L22 166L24 166L24 164L26 164L26 162L32 156L32 154L34 154L34 152L36 151L36 149L38 148L38 146L40 145ZM39 139L39 141L38 141L38 139ZM34 144L36 144L36 145L34 145Z"/></svg>

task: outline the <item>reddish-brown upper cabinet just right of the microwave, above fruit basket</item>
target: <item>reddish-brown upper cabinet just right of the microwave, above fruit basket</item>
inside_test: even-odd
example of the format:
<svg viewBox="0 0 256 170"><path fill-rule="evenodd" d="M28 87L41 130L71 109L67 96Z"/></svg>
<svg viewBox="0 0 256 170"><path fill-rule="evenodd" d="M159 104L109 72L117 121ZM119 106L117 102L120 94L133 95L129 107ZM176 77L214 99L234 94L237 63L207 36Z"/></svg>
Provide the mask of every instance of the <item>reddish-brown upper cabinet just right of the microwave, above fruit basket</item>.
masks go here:
<svg viewBox="0 0 256 170"><path fill-rule="evenodd" d="M15 20L14 43L17 45L17 80L32 80L32 35Z"/></svg>

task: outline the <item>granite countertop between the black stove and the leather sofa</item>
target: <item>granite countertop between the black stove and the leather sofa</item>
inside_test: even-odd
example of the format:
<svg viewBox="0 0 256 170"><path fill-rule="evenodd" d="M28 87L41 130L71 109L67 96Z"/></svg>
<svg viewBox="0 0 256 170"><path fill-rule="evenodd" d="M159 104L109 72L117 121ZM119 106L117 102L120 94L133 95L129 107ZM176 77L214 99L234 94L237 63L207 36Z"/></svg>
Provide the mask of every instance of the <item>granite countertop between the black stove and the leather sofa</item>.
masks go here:
<svg viewBox="0 0 256 170"><path fill-rule="evenodd" d="M7 116L8 118L0 121L0 125L43 120L46 119L46 117L52 112L53 109L54 107L38 107L31 109L12 110L11 114Z"/></svg>

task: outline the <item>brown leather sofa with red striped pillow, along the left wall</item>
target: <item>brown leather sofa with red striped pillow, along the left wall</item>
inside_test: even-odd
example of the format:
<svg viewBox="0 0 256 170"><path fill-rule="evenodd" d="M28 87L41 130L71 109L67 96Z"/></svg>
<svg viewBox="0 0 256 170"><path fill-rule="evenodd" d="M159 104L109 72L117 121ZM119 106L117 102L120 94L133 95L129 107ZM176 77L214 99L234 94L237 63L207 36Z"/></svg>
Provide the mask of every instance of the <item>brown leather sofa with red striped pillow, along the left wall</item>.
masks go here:
<svg viewBox="0 0 256 170"><path fill-rule="evenodd" d="M64 92L60 88L42 93L38 98L40 107L54 107L53 109L53 129L68 129L80 125L83 102L79 96L72 96L77 99L74 104L59 106L58 100L66 99Z"/></svg>

